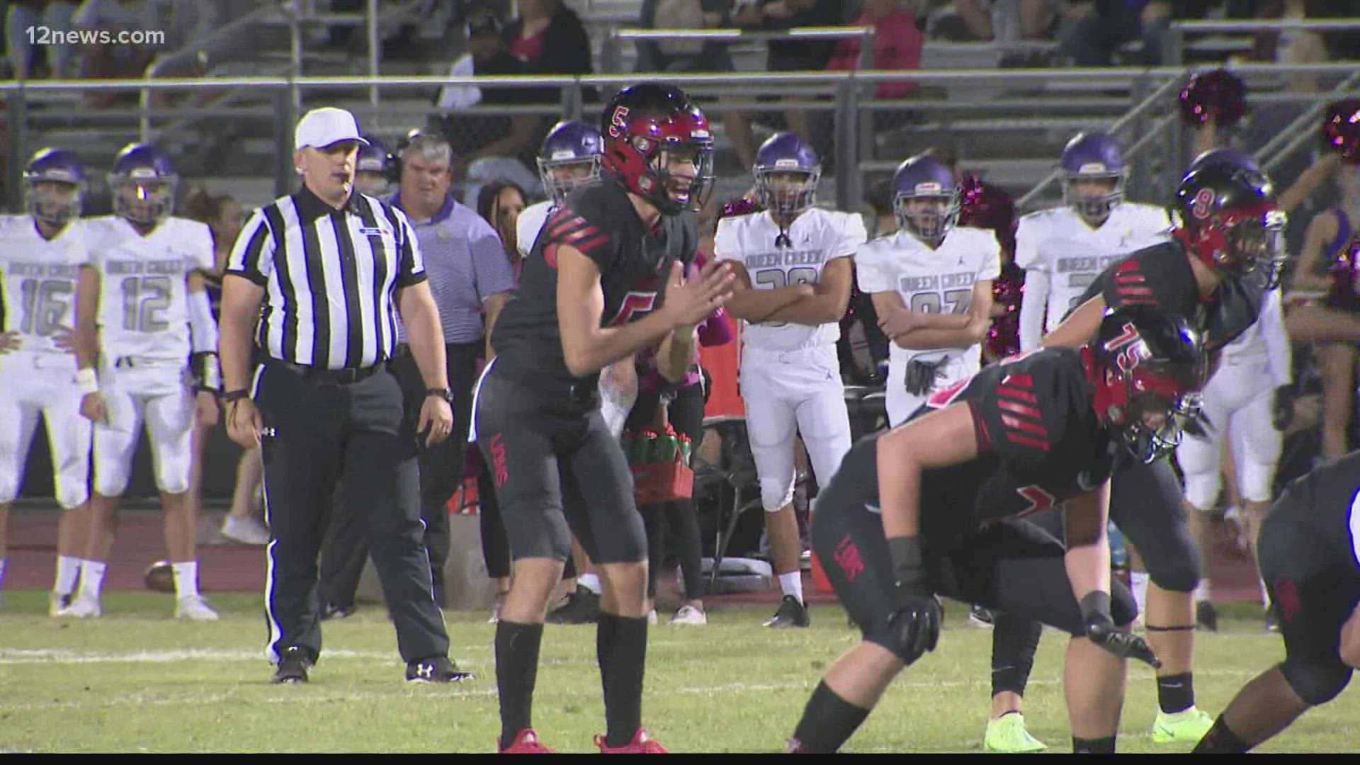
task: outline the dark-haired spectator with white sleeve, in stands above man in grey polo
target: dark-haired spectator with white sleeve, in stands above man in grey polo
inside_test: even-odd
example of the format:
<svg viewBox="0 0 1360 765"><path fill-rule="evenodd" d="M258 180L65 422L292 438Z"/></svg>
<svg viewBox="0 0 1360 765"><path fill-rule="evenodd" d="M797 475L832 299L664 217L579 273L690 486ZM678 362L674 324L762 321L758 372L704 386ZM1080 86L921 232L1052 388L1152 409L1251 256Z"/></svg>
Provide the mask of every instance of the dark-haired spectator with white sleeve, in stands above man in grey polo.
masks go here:
<svg viewBox="0 0 1360 765"><path fill-rule="evenodd" d="M511 27L514 29L514 27ZM468 19L468 54L453 63L450 76L524 75L528 64L510 49L500 22L491 14ZM450 86L439 91L441 109L468 109L476 105L521 106L540 101L539 88ZM511 180L533 188L539 178L529 169L534 161L543 117L534 114L449 113L437 118L454 152L454 176L464 178L462 199L475 204L483 184Z"/></svg>

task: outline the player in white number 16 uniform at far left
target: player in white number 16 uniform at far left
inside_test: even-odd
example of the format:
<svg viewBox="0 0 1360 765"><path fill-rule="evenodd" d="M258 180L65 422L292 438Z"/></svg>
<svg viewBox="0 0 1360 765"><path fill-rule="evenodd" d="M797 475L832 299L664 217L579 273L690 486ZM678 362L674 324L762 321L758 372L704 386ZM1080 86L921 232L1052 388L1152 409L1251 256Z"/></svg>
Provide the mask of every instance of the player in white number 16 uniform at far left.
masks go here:
<svg viewBox="0 0 1360 765"><path fill-rule="evenodd" d="M44 148L24 169L27 215L0 216L0 581L10 505L19 495L38 414L48 423L57 504L57 579L49 613L65 606L84 557L90 423L80 417L76 272L86 260L80 203L86 177L71 151Z"/></svg>

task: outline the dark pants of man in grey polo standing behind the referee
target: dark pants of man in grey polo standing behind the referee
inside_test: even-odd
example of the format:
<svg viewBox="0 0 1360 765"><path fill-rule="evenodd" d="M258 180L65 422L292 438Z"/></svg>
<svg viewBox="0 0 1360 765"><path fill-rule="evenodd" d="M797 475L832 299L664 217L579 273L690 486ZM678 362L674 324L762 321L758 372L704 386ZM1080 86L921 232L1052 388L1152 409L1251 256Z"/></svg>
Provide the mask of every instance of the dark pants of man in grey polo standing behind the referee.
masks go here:
<svg viewBox="0 0 1360 765"><path fill-rule="evenodd" d="M453 430L449 437L427 448L418 438L420 449L420 520L424 521L424 546L430 555L430 579L434 599L445 606L443 566L449 561L449 500L462 483L464 459L468 449L468 417L472 411L472 384L477 378L477 357L484 344L449 343L445 362L453 391ZM405 400L407 425L412 433L420 422L426 384L420 377L415 357L400 353L392 361L392 373L401 385ZM339 508L330 521L325 550L321 553L321 602L337 607L354 606L363 564L369 559L369 544L363 536L360 519Z"/></svg>

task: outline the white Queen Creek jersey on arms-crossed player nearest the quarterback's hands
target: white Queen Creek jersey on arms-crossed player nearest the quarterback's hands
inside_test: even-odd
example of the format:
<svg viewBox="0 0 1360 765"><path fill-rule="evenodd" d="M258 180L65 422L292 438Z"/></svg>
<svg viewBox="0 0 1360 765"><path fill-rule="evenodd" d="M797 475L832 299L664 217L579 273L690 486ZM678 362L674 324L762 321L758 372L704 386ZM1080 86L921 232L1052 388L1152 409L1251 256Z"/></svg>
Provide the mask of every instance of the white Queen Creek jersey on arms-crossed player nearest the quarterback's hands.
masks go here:
<svg viewBox="0 0 1360 765"><path fill-rule="evenodd" d="M789 240L793 246L775 246L779 225L768 212L753 212L718 222L713 238L718 260L736 260L745 267L751 287L777 290L787 284L816 284L821 270L836 257L851 257L865 242L864 219L858 212L839 212L813 207L793 221ZM764 350L796 350L826 346L840 339L840 324L828 321L816 327L786 321L743 321L744 346Z"/></svg>

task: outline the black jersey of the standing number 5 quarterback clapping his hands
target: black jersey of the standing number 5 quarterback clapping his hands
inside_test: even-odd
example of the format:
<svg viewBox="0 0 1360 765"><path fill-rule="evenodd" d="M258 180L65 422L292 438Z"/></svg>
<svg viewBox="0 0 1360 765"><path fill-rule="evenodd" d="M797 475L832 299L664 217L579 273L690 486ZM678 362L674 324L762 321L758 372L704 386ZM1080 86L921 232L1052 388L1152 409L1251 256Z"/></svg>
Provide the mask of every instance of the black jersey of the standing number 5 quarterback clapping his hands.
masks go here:
<svg viewBox="0 0 1360 765"><path fill-rule="evenodd" d="M558 248L594 260L604 291L601 327L636 321L661 308L675 260L694 261L699 230L691 212L662 216L646 230L627 192L605 180L574 191L543 225L520 274L520 291L492 329L498 365L525 382L568 381L593 389L598 374L575 378L558 332Z"/></svg>

